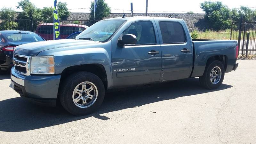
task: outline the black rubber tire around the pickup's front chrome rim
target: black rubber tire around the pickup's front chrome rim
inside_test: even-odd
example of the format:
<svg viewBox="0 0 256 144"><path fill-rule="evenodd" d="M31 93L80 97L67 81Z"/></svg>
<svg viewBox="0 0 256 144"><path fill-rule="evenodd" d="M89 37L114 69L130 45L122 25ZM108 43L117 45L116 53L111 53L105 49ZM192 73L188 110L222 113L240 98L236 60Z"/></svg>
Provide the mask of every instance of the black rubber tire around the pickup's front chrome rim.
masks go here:
<svg viewBox="0 0 256 144"><path fill-rule="evenodd" d="M80 108L73 101L73 92L76 86L83 82L91 82L97 88L98 96L96 101L88 108ZM105 88L100 78L90 72L77 72L64 80L60 85L60 103L69 113L76 116L83 116L97 110L104 100Z"/></svg>

